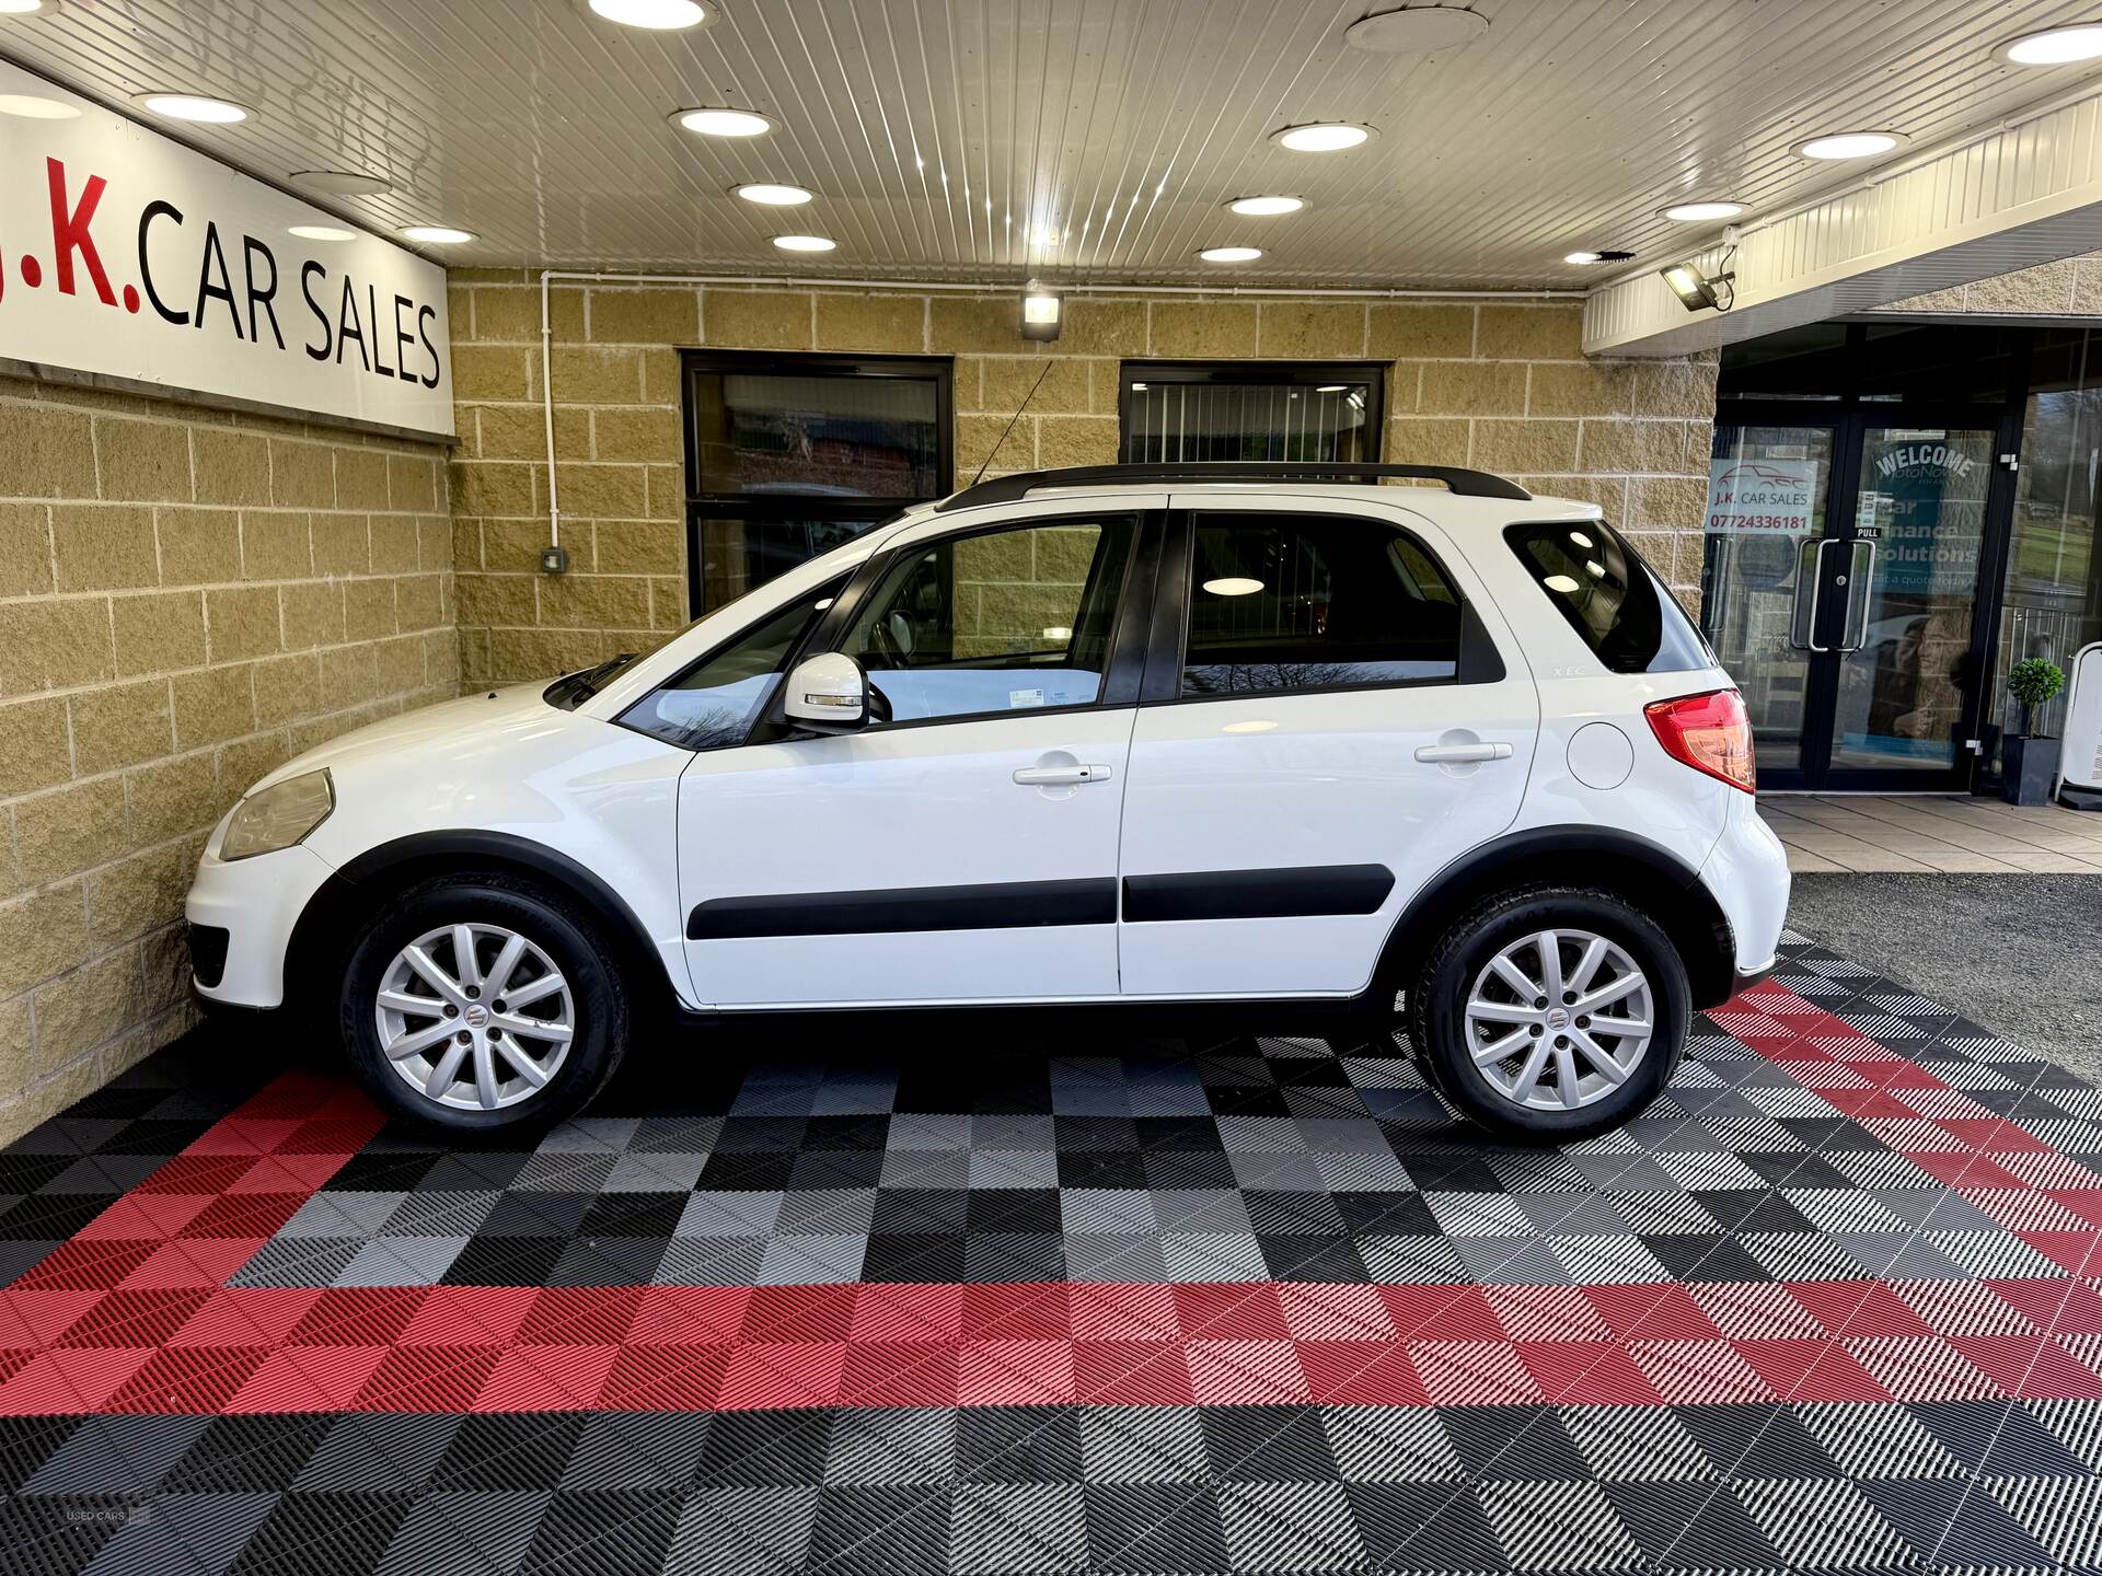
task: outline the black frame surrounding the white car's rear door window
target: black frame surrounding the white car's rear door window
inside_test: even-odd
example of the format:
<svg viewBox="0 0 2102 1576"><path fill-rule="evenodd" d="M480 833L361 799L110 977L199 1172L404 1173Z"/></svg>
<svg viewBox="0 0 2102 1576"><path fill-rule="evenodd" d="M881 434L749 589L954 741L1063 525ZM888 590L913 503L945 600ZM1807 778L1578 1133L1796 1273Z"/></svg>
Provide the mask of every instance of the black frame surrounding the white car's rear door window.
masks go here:
<svg viewBox="0 0 2102 1576"><path fill-rule="evenodd" d="M1219 509L1217 504L1190 504L1169 511L1167 534L1160 551L1158 595L1154 597L1154 622L1148 633L1146 679L1141 681L1139 704L1143 706L1215 706L1232 700L1291 700L1293 696L1352 696L1375 689L1444 689L1455 685L1501 683L1507 675L1497 639L1488 633L1467 582L1452 574L1444 555L1436 553L1419 532L1387 515L1366 515L1341 509L1305 509L1301 500L1280 498L1276 509ZM1209 696L1181 693L1183 664L1190 656L1190 605L1196 572L1196 521L1198 515L1225 515L1249 519L1328 519L1347 521L1362 530L1379 530L1408 540L1431 567L1452 588L1459 599L1459 651L1450 679L1375 679L1347 685L1295 685L1289 689L1228 689Z"/></svg>

